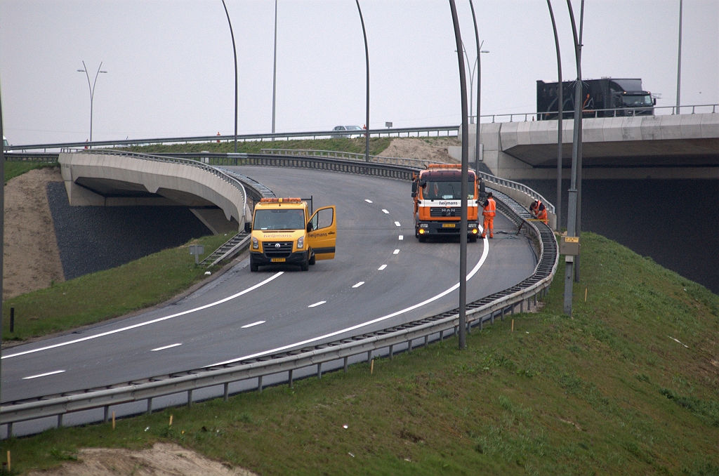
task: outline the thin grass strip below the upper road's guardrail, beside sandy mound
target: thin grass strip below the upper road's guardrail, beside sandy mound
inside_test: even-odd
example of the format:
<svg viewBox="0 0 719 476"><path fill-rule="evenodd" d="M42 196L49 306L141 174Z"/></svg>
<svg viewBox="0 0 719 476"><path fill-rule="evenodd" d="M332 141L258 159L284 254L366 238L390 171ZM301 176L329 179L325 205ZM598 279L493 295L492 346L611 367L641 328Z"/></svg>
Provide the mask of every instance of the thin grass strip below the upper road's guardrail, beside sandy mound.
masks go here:
<svg viewBox="0 0 719 476"><path fill-rule="evenodd" d="M391 137L370 137L370 155L379 155L390 146ZM336 139L303 139L303 140L270 140L237 142L237 152L245 154L261 154L262 149L300 149L300 150L334 150L336 152L365 153L365 138ZM124 150L144 154L170 152L213 152L226 154L234 152L234 142L202 142L199 144L142 145L127 147Z"/></svg>

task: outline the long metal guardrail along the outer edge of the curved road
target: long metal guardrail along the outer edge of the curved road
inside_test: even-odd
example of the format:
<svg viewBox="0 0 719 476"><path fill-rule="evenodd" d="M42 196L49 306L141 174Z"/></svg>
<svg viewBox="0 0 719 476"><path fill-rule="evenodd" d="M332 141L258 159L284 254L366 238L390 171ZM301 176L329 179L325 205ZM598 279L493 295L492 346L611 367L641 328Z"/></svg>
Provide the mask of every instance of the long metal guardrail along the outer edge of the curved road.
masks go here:
<svg viewBox="0 0 719 476"><path fill-rule="evenodd" d="M157 159L150 159L157 160ZM169 160L160 158L159 160ZM365 164L362 166L347 164L343 160L298 159L290 157L237 157L240 163L247 165L275 165L293 166L303 168L321 168L321 170L340 170L349 173L362 173L363 175L387 176L411 180L410 170L399 166L382 164ZM186 163L184 162L180 163ZM324 162L326 167L319 167ZM191 161L188 165L196 165ZM367 172L375 168L377 173ZM395 169L394 173L390 173ZM484 322L494 322L495 317L503 319L506 312L514 313L516 306L523 311L524 303L528 306L531 300L536 303L538 296L546 294L551 280L557 271L559 250L557 239L549 226L541 222L528 221L531 219L528 211L519 203L503 193L495 192L498 198L498 207L515 224L522 224L526 232L533 235L538 244L538 264L534 273L521 283L508 289L494 293L478 301L467 304L467 329L479 326ZM367 360L372 358L372 352L387 354L392 358L395 350L406 349L411 352L416 347L416 341L444 339L446 335L456 334L459 326L459 310L452 309L426 319L413 321L399 326L393 326L380 331L369 332L359 336L349 337L334 342L325 342L313 347L293 349L276 354L262 355L260 357L232 362L215 367L203 367L175 372L171 375L157 375L142 380L127 383L107 385L103 388L91 388L61 395L43 395L24 401L6 403L0 408L0 424L8 425L8 435L12 434L12 424L20 421L57 416L58 426L63 423L66 413L104 408L105 421L109 415L109 408L122 403L147 401L147 411L152 411L153 398L165 395L175 395L186 392L188 404L192 403L193 390L224 385L224 397L229 394L229 384L241 380L257 378L257 388L262 390L262 377L288 372L290 386L293 382L293 372L309 366L317 366L317 375L321 377L322 365L328 362L344 360L344 369L347 370L349 357L367 354ZM420 342L422 345L422 342ZM385 350L386 349L386 350Z"/></svg>

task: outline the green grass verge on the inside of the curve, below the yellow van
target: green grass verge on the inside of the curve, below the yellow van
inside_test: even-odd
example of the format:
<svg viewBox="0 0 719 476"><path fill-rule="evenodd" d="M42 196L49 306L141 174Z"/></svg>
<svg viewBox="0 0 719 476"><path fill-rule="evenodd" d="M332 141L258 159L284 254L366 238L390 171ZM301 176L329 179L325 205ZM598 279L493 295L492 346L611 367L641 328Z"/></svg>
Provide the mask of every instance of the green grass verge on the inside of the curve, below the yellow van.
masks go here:
<svg viewBox="0 0 719 476"><path fill-rule="evenodd" d="M205 255L229 237L194 239L204 244ZM218 267L209 268L214 272ZM110 270L55 283L50 288L9 298L3 303L4 341L23 340L78 326L106 321L167 301L206 278L208 268L195 265L188 245L170 248ZM15 308L14 332L10 332L10 308Z"/></svg>

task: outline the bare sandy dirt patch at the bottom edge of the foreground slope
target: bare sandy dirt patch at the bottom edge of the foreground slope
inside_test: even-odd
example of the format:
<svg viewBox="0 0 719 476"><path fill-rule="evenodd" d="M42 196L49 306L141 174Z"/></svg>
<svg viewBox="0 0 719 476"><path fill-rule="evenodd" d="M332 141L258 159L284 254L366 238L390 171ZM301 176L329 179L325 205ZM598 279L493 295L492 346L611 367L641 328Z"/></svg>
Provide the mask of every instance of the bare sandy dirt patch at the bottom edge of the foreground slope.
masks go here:
<svg viewBox="0 0 719 476"><path fill-rule="evenodd" d="M81 449L77 456L77 462L64 463L55 470L31 471L27 476L257 476L170 443L155 443L142 451Z"/></svg>

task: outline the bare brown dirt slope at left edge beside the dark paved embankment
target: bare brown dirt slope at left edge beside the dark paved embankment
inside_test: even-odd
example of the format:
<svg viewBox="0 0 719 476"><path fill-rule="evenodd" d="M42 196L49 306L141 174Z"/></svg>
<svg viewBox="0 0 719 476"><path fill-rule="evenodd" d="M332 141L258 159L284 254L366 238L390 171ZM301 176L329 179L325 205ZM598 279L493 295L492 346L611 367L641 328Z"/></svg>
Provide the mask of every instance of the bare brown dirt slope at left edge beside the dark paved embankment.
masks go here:
<svg viewBox="0 0 719 476"><path fill-rule="evenodd" d="M47 204L47 184L62 180L59 168L42 168L5 186L3 299L65 280Z"/></svg>

